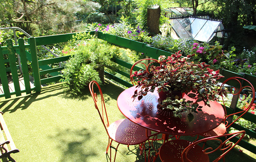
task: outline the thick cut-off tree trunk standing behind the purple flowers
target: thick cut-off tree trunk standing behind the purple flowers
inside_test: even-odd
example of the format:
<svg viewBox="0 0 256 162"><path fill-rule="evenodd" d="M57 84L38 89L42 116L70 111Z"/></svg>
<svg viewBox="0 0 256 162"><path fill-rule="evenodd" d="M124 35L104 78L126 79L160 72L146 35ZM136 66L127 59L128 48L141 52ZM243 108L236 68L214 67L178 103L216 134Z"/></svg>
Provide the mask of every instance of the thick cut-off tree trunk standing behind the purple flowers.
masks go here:
<svg viewBox="0 0 256 162"><path fill-rule="evenodd" d="M161 34L159 30L159 19L161 16L161 8L160 6L154 6L152 8L148 8L148 28L150 31L150 36L154 36L156 34Z"/></svg>

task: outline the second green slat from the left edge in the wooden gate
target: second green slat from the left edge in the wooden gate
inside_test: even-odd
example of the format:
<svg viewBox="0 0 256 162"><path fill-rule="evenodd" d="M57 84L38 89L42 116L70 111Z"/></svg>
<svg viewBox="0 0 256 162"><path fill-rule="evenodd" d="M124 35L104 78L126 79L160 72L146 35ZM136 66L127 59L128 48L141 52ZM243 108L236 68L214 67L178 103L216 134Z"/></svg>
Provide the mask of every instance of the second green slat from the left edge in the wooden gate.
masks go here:
<svg viewBox="0 0 256 162"><path fill-rule="evenodd" d="M16 56L15 56L15 51L13 49L13 41L11 39L7 39L7 48L8 48L8 56L10 60L10 67L11 67L11 72L12 72L12 77L13 77L13 84L14 84L14 89L16 96L20 96L20 82L19 82L19 75L17 71L17 64L16 64Z"/></svg>

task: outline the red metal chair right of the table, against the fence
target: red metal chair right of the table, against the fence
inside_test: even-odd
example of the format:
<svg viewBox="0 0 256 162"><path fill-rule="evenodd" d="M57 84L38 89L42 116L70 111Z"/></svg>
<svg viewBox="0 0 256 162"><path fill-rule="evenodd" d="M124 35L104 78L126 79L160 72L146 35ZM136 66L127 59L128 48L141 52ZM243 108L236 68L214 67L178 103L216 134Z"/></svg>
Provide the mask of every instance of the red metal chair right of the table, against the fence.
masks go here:
<svg viewBox="0 0 256 162"><path fill-rule="evenodd" d="M216 127L215 129L213 129L212 131L208 131L204 134L202 134L202 136L204 137L212 137L212 136L219 136L219 135L223 135L225 134L227 131L227 129L233 124L235 123L239 118L241 118L246 112L249 111L249 109L251 108L251 106L254 103L255 100L255 90L253 85L247 81L246 79L243 79L241 77L230 77L229 79L225 80L220 88L225 88L224 84L228 84L232 82L232 85L236 84L237 86L231 86L231 91L230 93L233 94L233 98L236 96L238 97L240 100L242 100L242 96L244 96L243 100L250 100L249 104L243 108L242 111L239 112L233 112L229 115L227 115L227 110L225 107L225 102L224 102L224 97L222 97L222 102L223 102L223 107L224 107L224 111L225 111L225 118L222 122L221 125L219 125L218 127ZM243 83L243 84L242 84ZM243 86L242 85L246 85ZM246 94L241 94L243 93L243 90L250 90L252 93L251 98L249 98ZM228 122L228 118L229 117L233 117L234 115L237 116L237 118L235 120L233 120L231 123Z"/></svg>

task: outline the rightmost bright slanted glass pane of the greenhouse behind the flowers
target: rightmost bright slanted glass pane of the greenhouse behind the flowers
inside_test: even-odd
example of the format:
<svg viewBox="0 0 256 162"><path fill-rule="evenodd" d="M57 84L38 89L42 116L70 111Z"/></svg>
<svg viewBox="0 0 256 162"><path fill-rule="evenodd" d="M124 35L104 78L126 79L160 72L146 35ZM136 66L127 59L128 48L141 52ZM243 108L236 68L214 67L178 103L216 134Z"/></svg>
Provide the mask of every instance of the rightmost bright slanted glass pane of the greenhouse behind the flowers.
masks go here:
<svg viewBox="0 0 256 162"><path fill-rule="evenodd" d="M195 40L202 42L209 42L210 38L213 37L214 31L220 25L220 21L207 20L207 22L202 26L202 29L194 37Z"/></svg>

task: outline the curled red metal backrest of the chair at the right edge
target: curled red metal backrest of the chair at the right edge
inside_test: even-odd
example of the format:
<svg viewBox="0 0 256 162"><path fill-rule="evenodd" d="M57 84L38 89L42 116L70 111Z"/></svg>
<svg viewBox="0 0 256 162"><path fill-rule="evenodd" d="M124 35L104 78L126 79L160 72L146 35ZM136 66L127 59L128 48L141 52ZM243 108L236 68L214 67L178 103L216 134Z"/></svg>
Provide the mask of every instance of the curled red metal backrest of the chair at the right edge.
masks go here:
<svg viewBox="0 0 256 162"><path fill-rule="evenodd" d="M242 111L236 111L236 112L233 111L232 113L227 115L225 100L224 100L224 97L222 97L224 110L225 110L225 114L226 114L223 122L226 125L226 128L229 128L233 123L236 122L236 120L241 118L252 107L254 100L255 100L255 90L254 90L253 85L249 81L247 81L246 79L241 78L241 77L230 77L229 79L225 80L222 83L220 88L223 89L223 88L225 88L226 85L231 86L231 90L229 93L231 93L233 95L232 100L235 100L234 103L232 103L233 101L231 102L230 107L232 107L232 108L236 107L238 99L246 100L248 102L248 104L245 107L243 107ZM247 94L244 93L245 90L246 91L249 90L251 92L251 97L249 97ZM233 115L237 116L237 118L235 120L233 120ZM229 117L232 120L230 120ZM230 120L230 122L228 122L228 120Z"/></svg>

